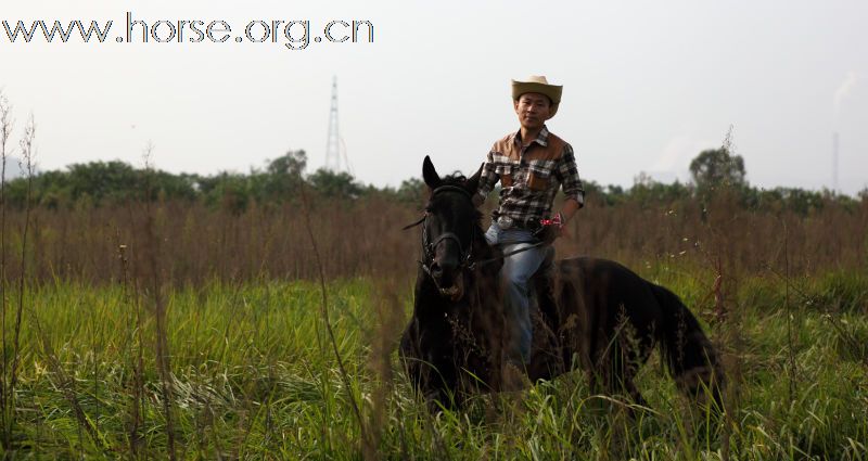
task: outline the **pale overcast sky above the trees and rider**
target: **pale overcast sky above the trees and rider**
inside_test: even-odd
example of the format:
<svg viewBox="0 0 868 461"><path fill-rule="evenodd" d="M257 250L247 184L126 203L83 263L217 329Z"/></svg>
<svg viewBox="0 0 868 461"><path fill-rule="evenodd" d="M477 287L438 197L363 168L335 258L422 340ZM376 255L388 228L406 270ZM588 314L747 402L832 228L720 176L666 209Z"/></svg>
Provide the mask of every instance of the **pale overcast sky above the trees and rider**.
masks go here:
<svg viewBox="0 0 868 461"><path fill-rule="evenodd" d="M34 114L41 169L98 159L141 165L150 141L153 163L173 172L245 172L297 149L312 170L326 161L336 76L341 136L362 182L421 176L426 154L442 172L472 172L497 138L518 129L510 78L546 75L564 86L548 126L574 146L584 178L630 185L646 171L685 180L690 159L719 146L732 125L755 185L831 187L838 131L840 189L868 187L864 0L0 7L11 27L114 21L105 43L75 36L11 43L0 27L0 88L17 128ZM118 43L128 11L149 24L222 20L232 38L255 20L309 20L311 38L330 21L363 20L373 24L373 42L311 40L301 50L282 36L277 43Z"/></svg>

